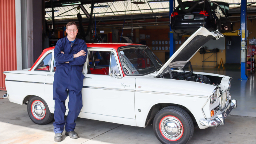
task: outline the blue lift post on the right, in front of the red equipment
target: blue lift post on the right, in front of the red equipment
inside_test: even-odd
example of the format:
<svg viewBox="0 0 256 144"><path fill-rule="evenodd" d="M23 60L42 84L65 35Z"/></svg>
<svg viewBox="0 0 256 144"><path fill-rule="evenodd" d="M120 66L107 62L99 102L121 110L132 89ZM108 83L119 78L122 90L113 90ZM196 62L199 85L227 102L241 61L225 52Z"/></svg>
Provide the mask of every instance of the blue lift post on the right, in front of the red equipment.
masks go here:
<svg viewBox="0 0 256 144"><path fill-rule="evenodd" d="M247 0L241 0L241 80L248 80L246 75L246 25L247 25Z"/></svg>

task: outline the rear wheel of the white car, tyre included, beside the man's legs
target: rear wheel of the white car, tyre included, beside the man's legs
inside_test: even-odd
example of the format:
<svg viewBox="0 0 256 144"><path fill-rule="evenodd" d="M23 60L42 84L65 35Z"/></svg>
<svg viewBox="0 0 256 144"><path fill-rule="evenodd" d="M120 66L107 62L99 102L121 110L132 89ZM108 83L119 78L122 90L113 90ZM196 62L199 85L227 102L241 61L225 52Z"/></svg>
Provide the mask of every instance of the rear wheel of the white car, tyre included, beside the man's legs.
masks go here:
<svg viewBox="0 0 256 144"><path fill-rule="evenodd" d="M53 120L53 114L44 101L38 96L32 96L27 104L27 113L35 124L45 125Z"/></svg>

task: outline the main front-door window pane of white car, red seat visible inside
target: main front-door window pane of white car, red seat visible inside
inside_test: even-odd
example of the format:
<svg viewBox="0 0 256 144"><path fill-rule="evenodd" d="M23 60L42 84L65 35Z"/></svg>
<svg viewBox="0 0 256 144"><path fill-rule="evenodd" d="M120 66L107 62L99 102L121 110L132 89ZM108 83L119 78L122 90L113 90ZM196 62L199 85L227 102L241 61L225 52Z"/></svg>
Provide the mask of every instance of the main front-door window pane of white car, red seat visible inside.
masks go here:
<svg viewBox="0 0 256 144"><path fill-rule="evenodd" d="M89 51L87 74L109 75L109 51Z"/></svg>

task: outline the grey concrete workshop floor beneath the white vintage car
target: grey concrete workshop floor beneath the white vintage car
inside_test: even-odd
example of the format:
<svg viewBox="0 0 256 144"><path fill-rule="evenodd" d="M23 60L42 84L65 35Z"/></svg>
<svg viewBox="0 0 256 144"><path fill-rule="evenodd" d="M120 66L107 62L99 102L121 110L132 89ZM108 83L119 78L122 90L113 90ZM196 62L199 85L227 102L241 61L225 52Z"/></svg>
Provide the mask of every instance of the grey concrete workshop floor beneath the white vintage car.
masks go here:
<svg viewBox="0 0 256 144"><path fill-rule="evenodd" d="M231 115L226 118L226 124L217 129L195 129L188 144L255 144L255 73L248 73L250 79L241 81L237 80L240 71L195 71L233 77L230 94L233 99L237 99L238 108L232 110ZM4 93L0 91L0 96ZM53 122L47 125L34 124L27 114L26 105L11 103L8 99L0 99L0 128L0 144L56 143L53 141ZM161 144L155 137L152 126L140 128L78 118L76 132L79 133L79 139L71 139L63 134L63 141L58 144Z"/></svg>

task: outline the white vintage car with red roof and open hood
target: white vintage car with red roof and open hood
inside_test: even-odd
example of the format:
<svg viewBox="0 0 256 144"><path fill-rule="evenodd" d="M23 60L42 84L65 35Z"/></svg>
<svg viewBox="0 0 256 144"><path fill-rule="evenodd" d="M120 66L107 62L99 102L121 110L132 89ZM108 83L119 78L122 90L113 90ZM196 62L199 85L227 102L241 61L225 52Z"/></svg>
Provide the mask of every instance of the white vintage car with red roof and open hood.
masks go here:
<svg viewBox="0 0 256 144"><path fill-rule="evenodd" d="M219 37L223 35L218 31L201 27L165 65L145 45L87 43L79 117L153 125L163 144L187 143L194 127L224 125L237 107L229 94L231 77L193 72L189 62L204 43ZM3 97L27 105L30 119L41 125L53 120L53 51L54 47L45 49L30 69L4 72L7 94Z"/></svg>

